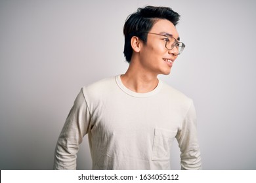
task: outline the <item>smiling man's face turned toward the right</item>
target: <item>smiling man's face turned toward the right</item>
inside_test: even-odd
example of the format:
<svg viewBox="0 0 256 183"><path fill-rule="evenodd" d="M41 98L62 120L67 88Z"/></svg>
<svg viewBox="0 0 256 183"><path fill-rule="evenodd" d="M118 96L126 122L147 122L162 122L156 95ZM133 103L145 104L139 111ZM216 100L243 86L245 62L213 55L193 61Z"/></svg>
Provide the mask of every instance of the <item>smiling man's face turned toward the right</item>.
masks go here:
<svg viewBox="0 0 256 183"><path fill-rule="evenodd" d="M153 75L169 75L179 51L176 47L167 50L165 48L166 37L162 35L171 35L179 40L177 29L169 20L158 20L149 32L146 44L142 43L140 48L140 63Z"/></svg>

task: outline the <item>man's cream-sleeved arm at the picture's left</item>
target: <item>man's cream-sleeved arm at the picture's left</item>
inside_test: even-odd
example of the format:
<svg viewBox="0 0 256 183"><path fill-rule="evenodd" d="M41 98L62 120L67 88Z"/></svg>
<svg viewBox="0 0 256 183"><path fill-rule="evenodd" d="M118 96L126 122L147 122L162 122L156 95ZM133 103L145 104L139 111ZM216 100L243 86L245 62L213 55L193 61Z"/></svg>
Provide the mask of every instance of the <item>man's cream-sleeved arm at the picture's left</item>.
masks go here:
<svg viewBox="0 0 256 183"><path fill-rule="evenodd" d="M76 169L76 154L90 129L90 116L83 92L80 92L58 137L53 169Z"/></svg>

